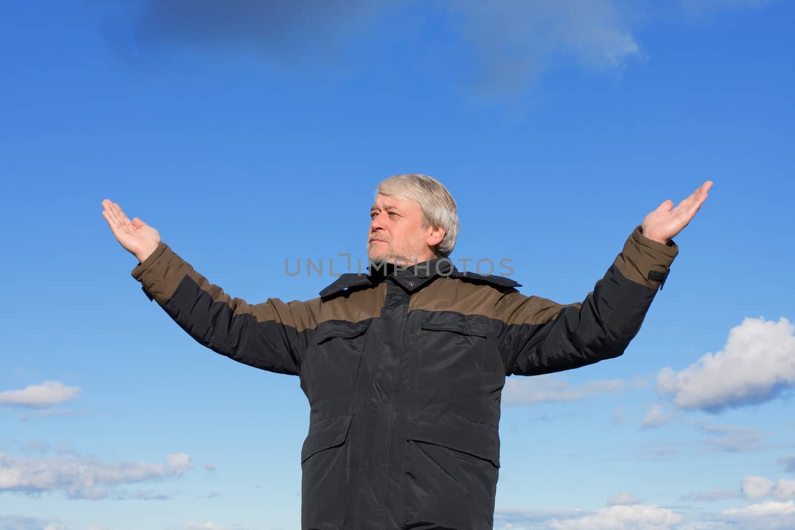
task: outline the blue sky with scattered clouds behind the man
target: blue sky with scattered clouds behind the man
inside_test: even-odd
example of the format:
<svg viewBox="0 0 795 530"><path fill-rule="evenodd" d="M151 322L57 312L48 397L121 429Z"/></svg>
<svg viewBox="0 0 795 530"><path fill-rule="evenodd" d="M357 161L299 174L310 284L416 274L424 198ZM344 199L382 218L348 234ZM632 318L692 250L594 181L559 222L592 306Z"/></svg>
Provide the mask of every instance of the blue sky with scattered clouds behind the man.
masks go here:
<svg viewBox="0 0 795 530"><path fill-rule="evenodd" d="M297 377L176 327L100 203L307 300L328 268L285 260L364 258L402 172L456 198L454 259L560 303L712 180L622 357L509 379L495 528L795 528L795 6L190 5L3 4L0 528L299 528Z"/></svg>

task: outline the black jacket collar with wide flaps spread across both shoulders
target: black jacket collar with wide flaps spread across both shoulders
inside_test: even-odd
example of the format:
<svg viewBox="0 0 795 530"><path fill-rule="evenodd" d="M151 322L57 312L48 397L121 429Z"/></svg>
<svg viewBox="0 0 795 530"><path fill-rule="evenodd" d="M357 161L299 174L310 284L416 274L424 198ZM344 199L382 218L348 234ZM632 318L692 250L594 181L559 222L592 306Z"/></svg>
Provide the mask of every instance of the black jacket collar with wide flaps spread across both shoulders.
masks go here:
<svg viewBox="0 0 795 530"><path fill-rule="evenodd" d="M522 287L522 284L502 276L484 275L470 271L461 272L456 269L456 265L452 264L452 260L449 257L436 257L409 267L397 266L394 263L370 263L366 274L343 274L320 291L320 296L333 296L353 287L372 287L388 278L401 285L406 291L415 292L436 277L460 278L461 280L492 284L499 287Z"/></svg>

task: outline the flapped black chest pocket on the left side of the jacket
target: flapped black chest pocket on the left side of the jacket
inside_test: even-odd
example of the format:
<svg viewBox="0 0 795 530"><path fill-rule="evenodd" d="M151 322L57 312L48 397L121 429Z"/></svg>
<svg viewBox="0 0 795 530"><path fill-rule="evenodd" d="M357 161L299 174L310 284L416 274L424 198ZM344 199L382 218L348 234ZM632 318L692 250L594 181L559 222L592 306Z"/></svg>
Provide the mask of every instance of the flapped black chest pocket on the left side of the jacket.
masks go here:
<svg viewBox="0 0 795 530"><path fill-rule="evenodd" d="M367 328L359 322L328 320L320 323L310 350L308 397L323 399L356 393Z"/></svg>

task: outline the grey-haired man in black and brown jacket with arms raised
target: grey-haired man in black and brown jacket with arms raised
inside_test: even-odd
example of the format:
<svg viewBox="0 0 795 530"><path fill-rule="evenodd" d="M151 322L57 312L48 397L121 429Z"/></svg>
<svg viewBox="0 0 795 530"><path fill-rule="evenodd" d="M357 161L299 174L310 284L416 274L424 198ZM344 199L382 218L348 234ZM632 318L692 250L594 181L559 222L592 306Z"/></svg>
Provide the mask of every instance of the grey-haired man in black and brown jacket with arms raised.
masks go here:
<svg viewBox="0 0 795 530"><path fill-rule="evenodd" d="M566 305L453 267L456 203L429 176L378 185L368 274L344 274L306 302L231 298L141 219L108 199L103 215L138 257L132 276L184 331L301 378L311 405L301 528L482 530L493 527L506 376L621 355L677 256L671 238L711 186L646 215L594 291Z"/></svg>

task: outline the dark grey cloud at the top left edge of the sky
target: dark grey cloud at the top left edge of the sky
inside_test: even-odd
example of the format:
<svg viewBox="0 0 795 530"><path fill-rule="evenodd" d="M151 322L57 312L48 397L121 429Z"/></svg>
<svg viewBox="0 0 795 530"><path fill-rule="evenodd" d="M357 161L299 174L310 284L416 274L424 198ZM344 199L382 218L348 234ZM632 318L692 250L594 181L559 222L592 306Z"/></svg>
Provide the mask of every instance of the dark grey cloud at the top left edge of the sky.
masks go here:
<svg viewBox="0 0 795 530"><path fill-rule="evenodd" d="M392 3L134 0L112 10L103 5L95 7L111 42L122 44L120 36L126 34L137 53L185 47L219 55L244 52L293 68L347 60L350 41ZM127 24L132 27L125 31Z"/></svg>

